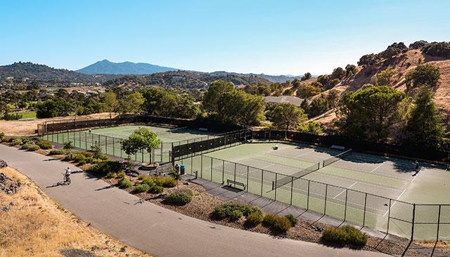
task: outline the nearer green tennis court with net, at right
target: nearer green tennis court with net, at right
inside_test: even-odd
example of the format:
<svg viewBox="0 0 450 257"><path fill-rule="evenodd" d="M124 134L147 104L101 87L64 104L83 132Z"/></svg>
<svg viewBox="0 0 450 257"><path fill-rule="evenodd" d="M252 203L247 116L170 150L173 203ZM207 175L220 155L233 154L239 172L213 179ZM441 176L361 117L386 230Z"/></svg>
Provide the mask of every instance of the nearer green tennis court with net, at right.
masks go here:
<svg viewBox="0 0 450 257"><path fill-rule="evenodd" d="M439 215L436 206L428 205L450 204L445 186L450 173L442 166L420 164L422 170L413 176L411 160L357 152L323 166L323 160L341 152L295 143L246 143L179 163L202 178L236 180L255 195L401 237L411 237L414 221L415 239L435 239L438 218L450 222L450 206L442 206ZM309 173L316 165L320 169ZM291 177L299 174L302 178ZM287 183L272 190L280 180ZM450 239L450 225L441 224L439 238Z"/></svg>

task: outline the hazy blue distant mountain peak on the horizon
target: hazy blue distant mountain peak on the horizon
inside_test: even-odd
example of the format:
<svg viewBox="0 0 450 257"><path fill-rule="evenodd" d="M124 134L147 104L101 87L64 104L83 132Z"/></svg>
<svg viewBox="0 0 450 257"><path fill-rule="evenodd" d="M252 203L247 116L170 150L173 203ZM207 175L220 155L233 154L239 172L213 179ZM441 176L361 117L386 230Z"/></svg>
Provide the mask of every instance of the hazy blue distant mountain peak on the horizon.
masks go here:
<svg viewBox="0 0 450 257"><path fill-rule="evenodd" d="M162 67L145 62L111 62L104 59L89 66L86 66L76 72L84 74L131 74L143 75L157 72L170 72L177 69L171 67Z"/></svg>

